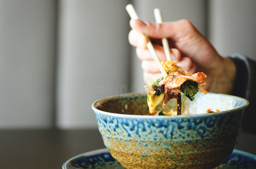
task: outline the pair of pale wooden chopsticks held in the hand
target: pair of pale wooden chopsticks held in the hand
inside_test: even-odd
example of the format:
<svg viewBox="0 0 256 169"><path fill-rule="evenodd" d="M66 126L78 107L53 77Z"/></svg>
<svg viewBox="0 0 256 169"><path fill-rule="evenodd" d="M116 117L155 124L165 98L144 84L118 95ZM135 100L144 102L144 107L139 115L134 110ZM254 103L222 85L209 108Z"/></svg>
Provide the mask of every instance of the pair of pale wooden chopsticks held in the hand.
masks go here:
<svg viewBox="0 0 256 169"><path fill-rule="evenodd" d="M132 19L139 19L135 9L133 8L132 4L128 4L126 5L125 7L126 11L128 12L128 14L130 15L130 17ZM162 16L162 12L156 8L154 9L154 14L155 14L155 19L156 19L156 23L158 24L161 24L163 22L163 16ZM146 38L148 39L148 43L147 43L147 47L148 47L148 50L149 52L151 53L151 55L153 56L158 68L160 69L161 73L164 75L164 77L168 76L168 74L166 73L166 71L164 70L160 60L159 60L159 57L157 56L156 54L156 51L148 37L148 35L145 35ZM163 43L163 47L164 47L164 53L165 53L165 56L167 58L167 60L172 60L171 59L171 53L170 53L170 49L169 49L169 45L168 45L168 41L166 38L163 38L162 39L162 43Z"/></svg>

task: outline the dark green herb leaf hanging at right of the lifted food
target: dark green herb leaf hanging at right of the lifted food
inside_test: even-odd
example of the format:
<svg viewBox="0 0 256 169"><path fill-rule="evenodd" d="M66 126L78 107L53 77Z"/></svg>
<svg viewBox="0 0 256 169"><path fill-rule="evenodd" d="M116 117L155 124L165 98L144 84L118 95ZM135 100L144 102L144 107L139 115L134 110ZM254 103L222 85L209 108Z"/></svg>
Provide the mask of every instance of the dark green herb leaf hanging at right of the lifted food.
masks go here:
<svg viewBox="0 0 256 169"><path fill-rule="evenodd" d="M199 91L197 82L187 80L180 86L181 92L184 93L190 99L193 101L195 99L196 93ZM186 89L186 90L185 90Z"/></svg>

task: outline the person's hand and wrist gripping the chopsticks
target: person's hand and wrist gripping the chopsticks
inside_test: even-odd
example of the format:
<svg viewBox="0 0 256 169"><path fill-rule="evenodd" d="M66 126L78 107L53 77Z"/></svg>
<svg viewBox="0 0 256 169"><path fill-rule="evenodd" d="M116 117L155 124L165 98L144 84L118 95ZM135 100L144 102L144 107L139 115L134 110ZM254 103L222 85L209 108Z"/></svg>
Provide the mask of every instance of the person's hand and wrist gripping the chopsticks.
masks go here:
<svg viewBox="0 0 256 169"><path fill-rule="evenodd" d="M167 38L172 60L177 61L189 73L204 72L207 75L205 89L209 92L230 93L236 77L236 66L229 58L221 57L211 43L188 20L182 19L162 24L130 21L132 30L129 42L137 47L142 61L143 74L153 79L162 77L159 68L147 49L147 34L161 61L166 61L162 38Z"/></svg>

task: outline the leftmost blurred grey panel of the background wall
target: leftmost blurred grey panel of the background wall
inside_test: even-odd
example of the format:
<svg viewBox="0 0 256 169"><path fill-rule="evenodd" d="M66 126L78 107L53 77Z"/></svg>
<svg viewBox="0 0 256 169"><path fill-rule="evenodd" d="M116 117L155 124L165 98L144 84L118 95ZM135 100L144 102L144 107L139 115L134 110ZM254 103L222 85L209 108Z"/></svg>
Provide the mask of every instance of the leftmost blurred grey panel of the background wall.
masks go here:
<svg viewBox="0 0 256 169"><path fill-rule="evenodd" d="M53 125L56 2L0 0L0 128Z"/></svg>

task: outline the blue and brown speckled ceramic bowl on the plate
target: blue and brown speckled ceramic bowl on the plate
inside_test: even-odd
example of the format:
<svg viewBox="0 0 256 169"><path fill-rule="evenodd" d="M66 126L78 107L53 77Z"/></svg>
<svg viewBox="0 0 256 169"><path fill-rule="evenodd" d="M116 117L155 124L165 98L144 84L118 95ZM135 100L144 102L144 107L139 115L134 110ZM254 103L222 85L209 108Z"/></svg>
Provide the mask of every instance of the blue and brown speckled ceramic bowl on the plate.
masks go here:
<svg viewBox="0 0 256 169"><path fill-rule="evenodd" d="M172 99L164 110L176 104ZM105 146L124 167L210 169L232 153L248 104L236 96L198 93L193 102L186 99L185 115L151 116L146 95L124 94L98 100L92 109ZM209 108L220 112L206 114Z"/></svg>

